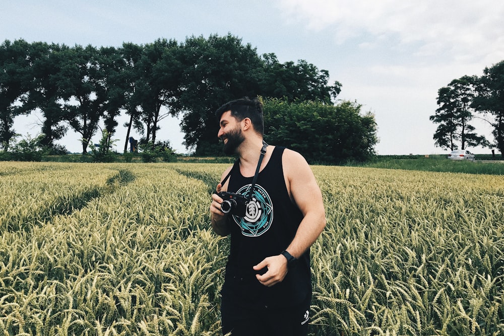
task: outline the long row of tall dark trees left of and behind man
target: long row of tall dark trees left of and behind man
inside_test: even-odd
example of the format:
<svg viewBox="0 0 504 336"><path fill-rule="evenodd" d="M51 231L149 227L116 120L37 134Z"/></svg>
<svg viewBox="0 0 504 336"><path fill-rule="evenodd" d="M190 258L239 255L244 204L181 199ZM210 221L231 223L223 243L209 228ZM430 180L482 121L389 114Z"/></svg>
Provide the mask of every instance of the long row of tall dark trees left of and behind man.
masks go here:
<svg viewBox="0 0 504 336"><path fill-rule="evenodd" d="M124 113L124 152L132 129L141 142L155 144L159 122L172 115L180 117L187 148L216 155L222 149L214 111L224 102L262 96L333 106L341 84L328 81L326 70L305 60L281 63L274 53L259 55L231 34L120 47L6 40L0 45L0 146L7 151L15 137L16 116L39 110L44 146L57 151L55 142L72 128L85 154L99 122L110 137Z"/></svg>

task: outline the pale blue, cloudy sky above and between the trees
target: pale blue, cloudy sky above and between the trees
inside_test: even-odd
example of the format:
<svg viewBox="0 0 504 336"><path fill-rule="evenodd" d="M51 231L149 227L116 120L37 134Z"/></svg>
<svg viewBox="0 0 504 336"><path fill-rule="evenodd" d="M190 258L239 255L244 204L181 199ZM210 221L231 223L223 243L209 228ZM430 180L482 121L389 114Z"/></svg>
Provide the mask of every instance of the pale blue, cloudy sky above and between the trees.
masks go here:
<svg viewBox="0 0 504 336"><path fill-rule="evenodd" d="M342 84L339 99L374 113L381 155L445 153L429 120L437 90L504 60L501 0L0 1L0 43L119 47L231 33L280 62L304 59ZM38 133L39 117L18 117L15 130ZM487 125L474 125L489 136ZM118 151L124 137L121 121ZM80 152L78 139L70 133L61 143ZM158 139L186 152L176 119L165 120Z"/></svg>

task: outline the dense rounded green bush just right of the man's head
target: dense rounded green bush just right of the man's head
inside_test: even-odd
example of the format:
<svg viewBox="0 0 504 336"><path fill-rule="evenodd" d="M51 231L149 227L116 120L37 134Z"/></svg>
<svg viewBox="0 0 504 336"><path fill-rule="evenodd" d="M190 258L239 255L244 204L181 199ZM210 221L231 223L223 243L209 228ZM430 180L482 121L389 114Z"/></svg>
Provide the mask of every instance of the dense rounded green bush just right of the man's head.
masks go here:
<svg viewBox="0 0 504 336"><path fill-rule="evenodd" d="M378 139L374 115L362 114L361 107L350 101L267 99L265 140L296 150L312 163L366 161L374 156Z"/></svg>

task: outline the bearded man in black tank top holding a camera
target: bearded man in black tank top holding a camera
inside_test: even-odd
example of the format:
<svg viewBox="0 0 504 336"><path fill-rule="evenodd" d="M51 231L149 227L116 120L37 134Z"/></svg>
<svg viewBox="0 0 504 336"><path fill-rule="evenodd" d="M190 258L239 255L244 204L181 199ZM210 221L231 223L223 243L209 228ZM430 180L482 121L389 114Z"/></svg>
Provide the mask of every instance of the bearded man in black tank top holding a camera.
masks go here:
<svg viewBox="0 0 504 336"><path fill-rule="evenodd" d="M228 102L216 116L224 152L239 159L222 174L217 192L247 197L244 215L224 213L225 199L217 193L210 205L213 230L231 235L221 292L222 331L306 335L311 301L309 247L326 225L320 188L299 153L263 142L258 99Z"/></svg>

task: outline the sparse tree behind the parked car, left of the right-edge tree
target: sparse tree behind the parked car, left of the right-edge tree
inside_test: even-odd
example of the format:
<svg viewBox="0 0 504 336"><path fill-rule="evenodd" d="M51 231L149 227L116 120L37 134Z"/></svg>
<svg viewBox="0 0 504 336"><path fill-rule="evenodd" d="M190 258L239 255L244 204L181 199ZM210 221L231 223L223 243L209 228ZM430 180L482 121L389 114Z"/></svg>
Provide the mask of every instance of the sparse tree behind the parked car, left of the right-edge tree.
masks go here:
<svg viewBox="0 0 504 336"><path fill-rule="evenodd" d="M476 80L476 77L463 76L437 91L439 108L429 117L439 124L433 136L437 146L454 150L458 143L461 149L487 145L485 138L476 135L474 126L469 124L473 118L470 106L475 97Z"/></svg>

